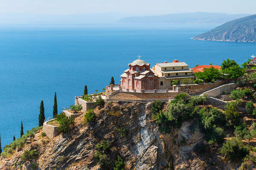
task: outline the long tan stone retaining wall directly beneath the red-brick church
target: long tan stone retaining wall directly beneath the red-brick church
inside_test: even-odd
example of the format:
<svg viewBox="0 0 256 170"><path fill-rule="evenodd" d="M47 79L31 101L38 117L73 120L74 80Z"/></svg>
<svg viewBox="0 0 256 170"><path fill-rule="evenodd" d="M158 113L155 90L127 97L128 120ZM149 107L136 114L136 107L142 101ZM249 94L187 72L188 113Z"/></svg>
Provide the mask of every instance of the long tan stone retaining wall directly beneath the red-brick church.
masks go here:
<svg viewBox="0 0 256 170"><path fill-rule="evenodd" d="M166 100L166 99L174 99L179 92L161 92L161 93L134 93L134 92L125 92L125 91L118 91L113 95L110 95L107 101L132 101L132 100Z"/></svg>

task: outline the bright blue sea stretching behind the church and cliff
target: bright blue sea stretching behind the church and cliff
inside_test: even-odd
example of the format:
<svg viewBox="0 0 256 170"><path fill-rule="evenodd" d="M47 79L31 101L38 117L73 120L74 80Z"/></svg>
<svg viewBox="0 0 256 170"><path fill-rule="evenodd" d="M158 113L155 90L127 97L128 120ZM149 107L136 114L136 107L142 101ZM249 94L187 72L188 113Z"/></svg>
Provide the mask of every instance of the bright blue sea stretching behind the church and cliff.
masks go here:
<svg viewBox="0 0 256 170"><path fill-rule="evenodd" d="M220 65L241 64L256 54L256 43L191 40L218 24L5 26L0 28L1 144L38 126L41 100L52 116L54 93L58 112L88 92L102 91L113 76L116 84L128 63L141 59L153 66L173 59Z"/></svg>

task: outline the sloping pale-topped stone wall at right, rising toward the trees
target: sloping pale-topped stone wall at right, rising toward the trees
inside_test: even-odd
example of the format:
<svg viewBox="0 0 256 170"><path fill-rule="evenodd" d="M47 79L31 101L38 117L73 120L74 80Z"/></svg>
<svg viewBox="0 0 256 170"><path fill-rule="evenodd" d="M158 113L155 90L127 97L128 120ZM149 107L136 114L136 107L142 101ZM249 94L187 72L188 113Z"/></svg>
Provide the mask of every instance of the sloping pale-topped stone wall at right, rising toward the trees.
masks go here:
<svg viewBox="0 0 256 170"><path fill-rule="evenodd" d="M230 83L230 84L221 85L221 86L219 86L217 88L214 88L212 90L206 91L203 94L207 94L208 96L215 97L215 96L219 96L219 95L223 94L224 91L230 92L233 89L235 89L236 87L237 87L236 83Z"/></svg>

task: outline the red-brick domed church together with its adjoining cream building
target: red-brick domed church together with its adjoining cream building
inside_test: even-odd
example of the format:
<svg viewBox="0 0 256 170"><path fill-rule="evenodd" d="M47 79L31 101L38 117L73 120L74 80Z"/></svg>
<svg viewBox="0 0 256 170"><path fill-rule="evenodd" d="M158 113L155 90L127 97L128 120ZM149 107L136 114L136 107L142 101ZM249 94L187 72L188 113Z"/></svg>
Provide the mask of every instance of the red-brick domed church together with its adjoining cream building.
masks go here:
<svg viewBox="0 0 256 170"><path fill-rule="evenodd" d="M172 88L172 82L178 80L182 84L184 79L194 79L192 70L186 62L157 63L153 68L150 64L140 59L128 64L129 68L121 75L120 85L122 89L129 90L165 90Z"/></svg>

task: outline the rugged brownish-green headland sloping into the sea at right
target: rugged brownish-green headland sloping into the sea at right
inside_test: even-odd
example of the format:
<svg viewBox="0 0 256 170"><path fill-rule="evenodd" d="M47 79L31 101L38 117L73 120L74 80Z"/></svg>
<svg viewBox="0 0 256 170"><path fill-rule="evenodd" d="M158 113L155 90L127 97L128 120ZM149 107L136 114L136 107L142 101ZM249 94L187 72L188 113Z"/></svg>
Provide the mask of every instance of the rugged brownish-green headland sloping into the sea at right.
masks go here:
<svg viewBox="0 0 256 170"><path fill-rule="evenodd" d="M256 14L224 23L192 39L204 41L256 42Z"/></svg>

